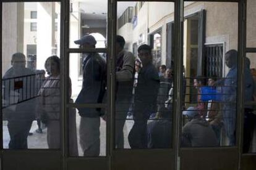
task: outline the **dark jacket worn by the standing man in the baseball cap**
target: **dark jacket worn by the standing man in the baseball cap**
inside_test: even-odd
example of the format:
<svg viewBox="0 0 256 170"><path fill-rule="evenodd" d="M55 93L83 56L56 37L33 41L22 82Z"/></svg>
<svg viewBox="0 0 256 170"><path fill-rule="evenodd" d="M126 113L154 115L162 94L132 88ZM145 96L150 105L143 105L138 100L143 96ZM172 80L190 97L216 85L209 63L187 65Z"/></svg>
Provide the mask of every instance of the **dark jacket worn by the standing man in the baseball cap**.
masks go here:
<svg viewBox="0 0 256 170"><path fill-rule="evenodd" d="M106 91L106 62L98 53L83 60L82 90L75 103L102 103ZM78 108L83 117L100 116L100 108Z"/></svg>

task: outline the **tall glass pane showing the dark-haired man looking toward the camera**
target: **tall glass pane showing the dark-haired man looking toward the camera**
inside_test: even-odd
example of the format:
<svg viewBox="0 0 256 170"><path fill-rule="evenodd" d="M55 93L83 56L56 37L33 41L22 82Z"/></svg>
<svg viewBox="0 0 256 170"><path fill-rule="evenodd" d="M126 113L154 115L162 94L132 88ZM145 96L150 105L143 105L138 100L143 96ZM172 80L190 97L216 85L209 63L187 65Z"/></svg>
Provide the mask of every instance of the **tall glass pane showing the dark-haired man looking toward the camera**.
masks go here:
<svg viewBox="0 0 256 170"><path fill-rule="evenodd" d="M173 16L173 2L117 2L115 148L171 148Z"/></svg>

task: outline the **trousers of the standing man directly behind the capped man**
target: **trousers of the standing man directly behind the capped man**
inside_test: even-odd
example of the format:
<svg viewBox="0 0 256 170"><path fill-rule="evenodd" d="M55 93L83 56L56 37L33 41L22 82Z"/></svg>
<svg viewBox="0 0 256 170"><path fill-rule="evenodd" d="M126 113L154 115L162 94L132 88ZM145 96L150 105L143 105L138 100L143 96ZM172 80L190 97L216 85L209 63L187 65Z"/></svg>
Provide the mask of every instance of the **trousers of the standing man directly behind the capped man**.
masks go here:
<svg viewBox="0 0 256 170"><path fill-rule="evenodd" d="M115 145L116 148L124 148L124 123L129 111L131 99L116 101L116 121L115 121Z"/></svg>

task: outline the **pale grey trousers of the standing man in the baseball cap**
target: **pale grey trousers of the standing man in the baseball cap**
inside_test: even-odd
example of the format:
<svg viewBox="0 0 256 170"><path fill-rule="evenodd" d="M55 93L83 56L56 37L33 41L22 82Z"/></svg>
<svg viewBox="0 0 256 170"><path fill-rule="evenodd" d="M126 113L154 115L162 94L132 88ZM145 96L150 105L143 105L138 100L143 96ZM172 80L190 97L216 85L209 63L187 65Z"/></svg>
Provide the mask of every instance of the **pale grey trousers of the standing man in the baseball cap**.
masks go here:
<svg viewBox="0 0 256 170"><path fill-rule="evenodd" d="M83 150L83 156L100 155L100 117L87 118L81 117L80 127L80 145Z"/></svg>

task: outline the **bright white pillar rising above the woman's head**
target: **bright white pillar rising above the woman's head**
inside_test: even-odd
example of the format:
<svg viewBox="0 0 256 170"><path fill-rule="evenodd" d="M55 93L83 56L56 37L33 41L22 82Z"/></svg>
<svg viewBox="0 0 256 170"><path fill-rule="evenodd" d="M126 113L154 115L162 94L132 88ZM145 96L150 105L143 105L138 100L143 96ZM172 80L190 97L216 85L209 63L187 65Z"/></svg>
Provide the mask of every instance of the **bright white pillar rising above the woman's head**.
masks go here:
<svg viewBox="0 0 256 170"><path fill-rule="evenodd" d="M53 2L38 2L37 4L37 69L45 69L45 60L53 54L54 9Z"/></svg>

